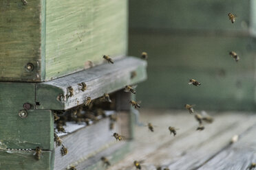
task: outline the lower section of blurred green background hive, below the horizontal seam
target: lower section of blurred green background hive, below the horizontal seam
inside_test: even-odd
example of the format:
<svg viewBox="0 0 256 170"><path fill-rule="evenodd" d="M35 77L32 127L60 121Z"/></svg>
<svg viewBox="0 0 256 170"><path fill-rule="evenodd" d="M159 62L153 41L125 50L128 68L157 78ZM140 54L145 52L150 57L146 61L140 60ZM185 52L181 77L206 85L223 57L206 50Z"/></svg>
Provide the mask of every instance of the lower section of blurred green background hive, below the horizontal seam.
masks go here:
<svg viewBox="0 0 256 170"><path fill-rule="evenodd" d="M129 53L149 53L148 80L137 87L143 107L255 110L253 41L248 37L133 32ZM152 48L153 47L153 48ZM235 62L228 51L237 51ZM201 86L189 86L189 79Z"/></svg>

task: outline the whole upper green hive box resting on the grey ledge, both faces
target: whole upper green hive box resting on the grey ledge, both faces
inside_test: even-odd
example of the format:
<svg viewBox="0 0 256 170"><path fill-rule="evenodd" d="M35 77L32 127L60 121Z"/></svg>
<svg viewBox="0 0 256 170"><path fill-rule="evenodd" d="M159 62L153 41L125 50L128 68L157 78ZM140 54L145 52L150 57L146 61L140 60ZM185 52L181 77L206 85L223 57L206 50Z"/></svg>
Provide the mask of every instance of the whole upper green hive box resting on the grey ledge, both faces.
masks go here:
<svg viewBox="0 0 256 170"><path fill-rule="evenodd" d="M44 82L127 52L127 0L25 1L0 1L0 81Z"/></svg>

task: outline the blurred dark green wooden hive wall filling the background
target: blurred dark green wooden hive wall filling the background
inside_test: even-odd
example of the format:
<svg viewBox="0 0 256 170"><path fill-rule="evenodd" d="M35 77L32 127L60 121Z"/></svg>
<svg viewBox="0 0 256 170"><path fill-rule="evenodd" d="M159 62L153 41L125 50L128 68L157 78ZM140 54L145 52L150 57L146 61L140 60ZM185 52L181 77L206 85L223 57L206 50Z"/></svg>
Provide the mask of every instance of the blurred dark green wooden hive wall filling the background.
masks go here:
<svg viewBox="0 0 256 170"><path fill-rule="evenodd" d="M254 3L129 0L129 56L149 55L148 80L137 87L142 106L255 110Z"/></svg>

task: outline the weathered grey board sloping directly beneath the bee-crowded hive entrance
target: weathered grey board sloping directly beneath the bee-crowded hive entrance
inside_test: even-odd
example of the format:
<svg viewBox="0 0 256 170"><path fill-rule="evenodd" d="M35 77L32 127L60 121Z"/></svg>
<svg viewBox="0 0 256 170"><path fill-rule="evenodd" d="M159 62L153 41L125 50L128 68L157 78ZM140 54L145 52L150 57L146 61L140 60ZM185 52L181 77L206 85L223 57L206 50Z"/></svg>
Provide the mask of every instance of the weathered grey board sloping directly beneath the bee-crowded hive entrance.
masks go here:
<svg viewBox="0 0 256 170"><path fill-rule="evenodd" d="M122 115L122 120L118 116L118 122L114 126L114 130L109 130L109 119L102 119L98 123L84 127L76 132L62 136L61 140L68 149L66 156L61 156L61 147L55 148L55 163L54 169L65 169L69 165L79 165L92 156L104 151L107 148L113 147L117 143L123 141L116 141L112 136L114 132L119 134L126 134L129 129L129 117L124 117L124 113L118 113ZM127 136L129 139L129 136Z"/></svg>

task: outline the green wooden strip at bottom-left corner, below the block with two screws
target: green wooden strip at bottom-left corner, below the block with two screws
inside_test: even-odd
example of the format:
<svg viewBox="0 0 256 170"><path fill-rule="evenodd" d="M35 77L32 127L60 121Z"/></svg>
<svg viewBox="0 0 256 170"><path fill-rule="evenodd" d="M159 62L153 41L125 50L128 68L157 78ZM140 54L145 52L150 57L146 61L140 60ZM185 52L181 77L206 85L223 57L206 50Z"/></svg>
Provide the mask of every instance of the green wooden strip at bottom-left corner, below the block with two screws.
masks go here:
<svg viewBox="0 0 256 170"><path fill-rule="evenodd" d="M42 151L41 159L34 158L35 151L0 150L0 169L15 170L52 170L52 151Z"/></svg>

